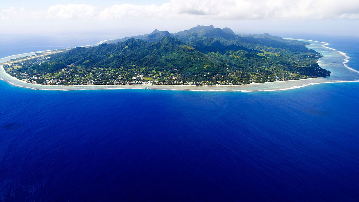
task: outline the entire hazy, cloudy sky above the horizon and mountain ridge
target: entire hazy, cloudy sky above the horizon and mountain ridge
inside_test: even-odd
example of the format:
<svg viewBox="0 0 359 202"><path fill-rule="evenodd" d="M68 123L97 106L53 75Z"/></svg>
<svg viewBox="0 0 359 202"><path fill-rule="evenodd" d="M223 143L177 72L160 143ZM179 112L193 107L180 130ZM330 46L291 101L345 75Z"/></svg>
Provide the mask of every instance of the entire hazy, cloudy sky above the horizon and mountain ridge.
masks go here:
<svg viewBox="0 0 359 202"><path fill-rule="evenodd" d="M103 39L201 25L236 33L358 36L358 0L1 0L1 34ZM358 36L359 37L359 36Z"/></svg>

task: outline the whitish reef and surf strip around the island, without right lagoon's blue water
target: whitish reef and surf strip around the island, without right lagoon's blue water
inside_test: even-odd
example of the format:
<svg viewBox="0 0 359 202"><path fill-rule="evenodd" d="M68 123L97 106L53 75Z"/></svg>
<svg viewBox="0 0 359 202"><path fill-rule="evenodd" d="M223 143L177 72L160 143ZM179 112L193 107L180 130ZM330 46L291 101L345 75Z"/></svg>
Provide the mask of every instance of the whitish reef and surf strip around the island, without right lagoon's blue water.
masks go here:
<svg viewBox="0 0 359 202"><path fill-rule="evenodd" d="M315 43L323 43L320 44L322 47L329 49L331 51L337 52L340 55L344 56L345 59L342 63L340 63L342 66L345 66L346 69L350 70L351 72L358 73L358 78L354 78L353 80L349 81L348 79L342 80L342 79L330 79L330 77L318 77L318 78L306 78L306 79L297 79L297 80L286 80L286 81L274 81L274 82L264 82L264 83L250 83L250 84L244 84L244 85L233 85L233 86L181 86L181 85L75 85L75 86L52 86L52 85L42 85L42 84L33 84L33 83L27 83L23 80L17 79L15 77L12 77L10 74L6 73L5 69L3 68L3 64L6 63L4 61L5 59L13 59L17 56L31 56L35 55L38 52L45 52L45 51L37 51L37 52L30 52L25 54L17 54L12 56L7 56L5 58L1 58L0 62L0 79L6 82L9 82L10 84L18 87L25 87L25 88L31 88L31 89L43 89L43 90L85 90L85 89L149 89L149 90L185 90L185 91L239 91L239 92L255 92L255 91L284 91L289 89L296 89L296 88L302 88L314 84L321 84L321 83L343 83L343 82L359 82L359 71L350 68L346 63L349 62L350 57L346 55L346 53L342 51L335 50L331 47L327 47L326 45L329 45L329 43L326 42L320 42L320 41L313 41L313 40L304 40L304 39L294 39L294 38L287 38L291 40L299 40L299 41L310 41ZM103 43L107 40L101 41L99 43ZM98 44L99 44L98 43ZM313 44L310 44L313 45ZM308 46L310 46L308 45ZM93 46L93 45L87 45L87 46ZM318 46L318 44L317 44ZM51 50L47 50L51 51ZM321 51L318 51L321 52ZM30 54L30 55L29 55ZM333 54L333 53L332 53ZM324 54L323 54L324 55ZM323 58L326 58L327 56L324 55ZM323 59L321 58L321 59ZM318 60L318 63L320 63L320 60ZM8 61L8 60L7 60ZM330 70L330 69L329 69ZM4 78L7 77L7 78ZM311 82L315 81L315 82Z"/></svg>

